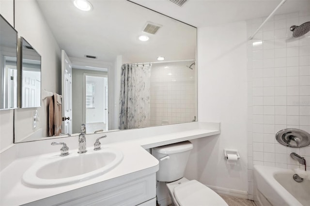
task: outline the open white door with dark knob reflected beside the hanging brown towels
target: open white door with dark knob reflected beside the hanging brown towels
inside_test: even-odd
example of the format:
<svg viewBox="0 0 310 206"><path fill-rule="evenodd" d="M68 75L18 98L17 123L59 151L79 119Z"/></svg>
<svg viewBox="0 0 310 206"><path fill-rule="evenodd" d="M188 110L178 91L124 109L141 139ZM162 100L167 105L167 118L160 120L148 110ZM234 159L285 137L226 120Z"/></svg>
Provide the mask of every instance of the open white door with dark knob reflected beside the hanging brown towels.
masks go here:
<svg viewBox="0 0 310 206"><path fill-rule="evenodd" d="M72 64L62 50L62 133L72 134Z"/></svg>

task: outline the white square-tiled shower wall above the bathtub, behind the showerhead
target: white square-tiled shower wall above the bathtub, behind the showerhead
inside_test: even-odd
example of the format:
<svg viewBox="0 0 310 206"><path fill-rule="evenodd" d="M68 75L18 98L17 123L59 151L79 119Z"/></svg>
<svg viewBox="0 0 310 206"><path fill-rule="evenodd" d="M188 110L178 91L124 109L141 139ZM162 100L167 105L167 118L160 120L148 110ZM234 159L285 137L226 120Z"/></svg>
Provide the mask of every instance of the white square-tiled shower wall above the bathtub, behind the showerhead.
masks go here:
<svg viewBox="0 0 310 206"><path fill-rule="evenodd" d="M248 36L263 20L247 21ZM249 198L253 165L303 168L291 152L310 161L310 147L285 147L275 139L285 128L310 132L310 32L294 38L290 31L292 25L309 20L310 13L275 15L248 41Z"/></svg>

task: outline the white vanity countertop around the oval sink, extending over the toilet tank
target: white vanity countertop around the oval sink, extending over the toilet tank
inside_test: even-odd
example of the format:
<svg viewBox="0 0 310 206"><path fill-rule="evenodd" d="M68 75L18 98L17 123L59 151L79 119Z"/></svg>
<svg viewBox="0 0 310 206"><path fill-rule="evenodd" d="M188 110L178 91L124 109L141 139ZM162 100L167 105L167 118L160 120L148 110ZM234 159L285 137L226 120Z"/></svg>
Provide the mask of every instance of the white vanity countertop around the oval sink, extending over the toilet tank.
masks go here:
<svg viewBox="0 0 310 206"><path fill-rule="evenodd" d="M42 160L46 157L50 157L52 155L58 155L59 151L47 154L43 153L28 157L26 155L25 158L17 158L6 168L4 168L0 173L0 205L23 205L36 200L41 200L47 197L51 197L53 195L62 194L74 190L81 190L82 192L93 193L94 191L92 191L92 187L89 186L94 184L101 184L100 188L104 190L114 187L118 184L118 182L135 179L135 177L137 176L137 172L139 173L140 177L155 173L159 168L158 161L155 157L153 157L149 152L145 150L146 148L158 147L176 142L182 142L186 140L219 134L219 123L211 124L213 125L210 126L209 124L200 124L200 126L197 126L198 124L192 124L195 125L195 127L193 127L192 129L186 128L186 130L181 132L167 132L166 134L155 134L153 136L148 135L148 137L146 138L131 138L130 140L110 142L109 144L104 144L104 147L112 147L121 150L124 154L123 161L115 168L99 177L94 177L89 180L62 187L37 189L27 187L21 183L23 173L34 162ZM218 127L215 126L216 124L218 125ZM209 126L211 129L208 129ZM179 125L179 127L182 127L182 125ZM150 130L154 132L156 128ZM157 127L157 130L161 130L161 128ZM139 132L139 130L136 130L136 132L137 131ZM147 130L145 131L147 132ZM133 131L131 131L131 133L132 132ZM50 144L49 142L51 141L48 141L47 144ZM87 149L92 150L93 147L88 147ZM77 150L70 150L69 152L77 152ZM1 155L1 159L4 158L3 154ZM23 155L20 154L20 156ZM85 188L83 189L83 187L87 187L87 190L85 190Z"/></svg>

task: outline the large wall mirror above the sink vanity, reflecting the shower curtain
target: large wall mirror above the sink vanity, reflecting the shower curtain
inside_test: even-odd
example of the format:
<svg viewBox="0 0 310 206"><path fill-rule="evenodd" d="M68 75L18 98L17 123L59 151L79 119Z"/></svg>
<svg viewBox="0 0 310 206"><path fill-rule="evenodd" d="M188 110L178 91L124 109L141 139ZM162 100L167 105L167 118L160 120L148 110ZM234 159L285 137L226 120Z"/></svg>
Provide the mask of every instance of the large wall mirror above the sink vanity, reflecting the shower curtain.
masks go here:
<svg viewBox="0 0 310 206"><path fill-rule="evenodd" d="M128 0L89 0L88 12L37 2L67 54L72 89L61 95L72 114L60 136L35 140L78 135L83 123L90 134L197 120L197 28Z"/></svg>

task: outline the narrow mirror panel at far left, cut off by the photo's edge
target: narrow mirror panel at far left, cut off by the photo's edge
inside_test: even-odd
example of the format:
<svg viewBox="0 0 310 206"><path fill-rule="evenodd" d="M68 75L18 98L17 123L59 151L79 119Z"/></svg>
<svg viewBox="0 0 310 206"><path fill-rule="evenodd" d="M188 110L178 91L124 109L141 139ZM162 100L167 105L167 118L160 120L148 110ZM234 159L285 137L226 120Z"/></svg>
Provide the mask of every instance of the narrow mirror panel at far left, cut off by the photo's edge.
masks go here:
<svg viewBox="0 0 310 206"><path fill-rule="evenodd" d="M17 31L0 15L0 109L17 107Z"/></svg>

